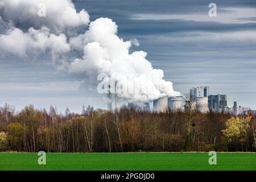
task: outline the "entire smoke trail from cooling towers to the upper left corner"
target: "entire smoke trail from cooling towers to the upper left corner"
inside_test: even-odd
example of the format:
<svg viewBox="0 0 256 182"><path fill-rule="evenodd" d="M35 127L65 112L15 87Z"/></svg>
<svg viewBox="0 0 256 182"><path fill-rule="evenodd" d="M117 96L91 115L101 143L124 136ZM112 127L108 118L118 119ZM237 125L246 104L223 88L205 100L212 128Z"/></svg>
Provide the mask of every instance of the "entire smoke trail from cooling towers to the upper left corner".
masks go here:
<svg viewBox="0 0 256 182"><path fill-rule="evenodd" d="M46 17L38 16L42 2ZM3 53L21 59L51 55L56 68L90 83L96 83L97 76L105 73L114 78L118 96L129 101L180 95L172 82L163 80L163 71L152 67L146 52L129 52L132 45L139 46L137 39L119 38L112 19L89 23L88 13L77 13L69 0L0 0L0 16ZM124 88L132 91L122 92Z"/></svg>

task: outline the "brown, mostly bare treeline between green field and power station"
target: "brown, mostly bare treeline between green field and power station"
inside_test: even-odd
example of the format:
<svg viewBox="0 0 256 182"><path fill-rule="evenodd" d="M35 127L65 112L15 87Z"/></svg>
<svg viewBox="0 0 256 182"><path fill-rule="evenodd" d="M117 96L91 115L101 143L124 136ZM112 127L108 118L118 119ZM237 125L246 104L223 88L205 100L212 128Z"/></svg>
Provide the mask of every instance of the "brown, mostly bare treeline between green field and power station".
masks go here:
<svg viewBox="0 0 256 182"><path fill-rule="evenodd" d="M0 107L0 151L139 152L255 151L254 114L234 118L197 110L150 113L83 107L82 114L30 105Z"/></svg>

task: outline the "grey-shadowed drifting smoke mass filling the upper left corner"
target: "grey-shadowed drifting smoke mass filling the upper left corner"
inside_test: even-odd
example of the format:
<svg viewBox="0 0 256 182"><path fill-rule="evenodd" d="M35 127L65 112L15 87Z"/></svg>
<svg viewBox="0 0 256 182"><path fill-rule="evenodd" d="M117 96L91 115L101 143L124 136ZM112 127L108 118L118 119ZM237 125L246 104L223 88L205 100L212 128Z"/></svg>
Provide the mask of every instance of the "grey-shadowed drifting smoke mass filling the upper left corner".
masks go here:
<svg viewBox="0 0 256 182"><path fill-rule="evenodd" d="M40 17L42 7L46 16ZM0 23L1 51L21 59L40 53L58 59L71 51L68 36L88 26L89 15L77 13L69 0L0 0Z"/></svg>

